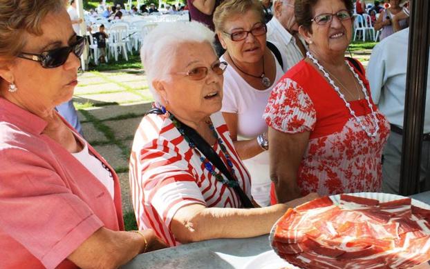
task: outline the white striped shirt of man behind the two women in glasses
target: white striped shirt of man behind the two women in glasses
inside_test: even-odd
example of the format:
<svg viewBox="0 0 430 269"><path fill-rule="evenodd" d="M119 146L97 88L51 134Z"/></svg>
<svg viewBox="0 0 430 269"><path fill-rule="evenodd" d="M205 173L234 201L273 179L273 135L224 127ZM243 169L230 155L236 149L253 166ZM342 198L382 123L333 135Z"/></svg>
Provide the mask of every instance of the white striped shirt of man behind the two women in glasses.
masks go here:
<svg viewBox="0 0 430 269"><path fill-rule="evenodd" d="M277 46L279 51L281 52L282 61L283 61L283 71L287 72L290 68L295 66L299 61L303 59L303 54L299 47L296 44L295 37L290 34L283 28L282 24L278 21L277 18L273 17L267 24L268 33L267 39L268 41L275 41L279 44ZM305 46L303 44L303 46ZM306 48L306 46L305 46Z"/></svg>

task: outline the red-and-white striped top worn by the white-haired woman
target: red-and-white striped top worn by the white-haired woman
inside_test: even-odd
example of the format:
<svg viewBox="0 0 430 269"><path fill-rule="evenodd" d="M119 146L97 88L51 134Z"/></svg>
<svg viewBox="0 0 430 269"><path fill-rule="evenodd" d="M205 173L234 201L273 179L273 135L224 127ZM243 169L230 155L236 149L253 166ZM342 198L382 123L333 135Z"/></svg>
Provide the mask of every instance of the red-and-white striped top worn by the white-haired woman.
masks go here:
<svg viewBox="0 0 430 269"><path fill-rule="evenodd" d="M251 199L250 174L234 149L221 112L212 114L211 119L231 155L239 184ZM213 148L227 163L218 143ZM142 119L135 133L129 164L138 227L140 230L152 228L169 246L180 244L170 230L171 219L179 208L192 203L209 208L241 208L236 192L205 170L196 150L189 148L165 115L149 114Z"/></svg>

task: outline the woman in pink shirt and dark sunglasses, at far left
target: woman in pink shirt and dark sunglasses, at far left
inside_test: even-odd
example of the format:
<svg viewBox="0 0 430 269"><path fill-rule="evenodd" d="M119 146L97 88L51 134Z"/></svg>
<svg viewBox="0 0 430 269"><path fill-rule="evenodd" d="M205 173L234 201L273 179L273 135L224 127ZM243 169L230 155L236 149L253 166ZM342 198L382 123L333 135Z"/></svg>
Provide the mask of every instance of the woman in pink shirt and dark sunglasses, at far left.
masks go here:
<svg viewBox="0 0 430 269"><path fill-rule="evenodd" d="M0 0L0 267L117 268L165 246L123 232L120 184L55 111L84 38L64 1Z"/></svg>

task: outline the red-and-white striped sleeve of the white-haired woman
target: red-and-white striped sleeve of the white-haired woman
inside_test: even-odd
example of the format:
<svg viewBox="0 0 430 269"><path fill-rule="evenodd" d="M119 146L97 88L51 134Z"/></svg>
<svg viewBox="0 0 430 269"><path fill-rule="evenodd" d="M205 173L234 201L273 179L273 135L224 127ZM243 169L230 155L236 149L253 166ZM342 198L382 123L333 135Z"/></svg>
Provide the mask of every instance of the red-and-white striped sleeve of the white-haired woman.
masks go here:
<svg viewBox="0 0 430 269"><path fill-rule="evenodd" d="M145 203L155 208L167 227L178 209L192 203L206 206L189 159L172 142L160 138L142 148L140 162Z"/></svg>

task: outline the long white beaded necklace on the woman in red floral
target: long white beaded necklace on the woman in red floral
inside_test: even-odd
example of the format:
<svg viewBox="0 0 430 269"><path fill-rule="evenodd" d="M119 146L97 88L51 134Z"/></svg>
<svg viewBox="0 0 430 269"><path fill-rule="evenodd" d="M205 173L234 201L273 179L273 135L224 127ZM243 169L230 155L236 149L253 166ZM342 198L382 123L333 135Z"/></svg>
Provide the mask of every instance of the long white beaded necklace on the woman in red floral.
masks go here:
<svg viewBox="0 0 430 269"><path fill-rule="evenodd" d="M337 94L339 94L339 97L344 100L345 106L346 108L348 108L349 113L355 118L355 120L359 123L359 125L362 127L362 129L364 130L364 132L366 132L366 134L369 137L376 137L377 135L377 131L380 130L380 126L378 125L378 123L380 122L379 119L377 119L376 117L376 112L373 110L373 106L371 104L371 100L367 95L367 90L366 87L364 87L363 81L361 79L359 79L358 74L356 72L354 72L354 69L352 66L350 66L350 64L348 63L348 60L345 60L346 65L349 67L349 70L351 72L353 72L354 77L357 79L358 83L360 86L362 86L362 92L364 93L364 98L367 101L368 107L371 109L371 114L373 117L373 120L375 121L375 131L371 132L370 130L367 130L366 126L364 126L364 124L362 123L362 120L359 119L359 117L357 117L355 115L355 111L351 109L350 107L350 103L348 103L345 99L345 95L342 94L342 92L340 92L339 87L337 87L335 85L335 81L333 81L333 79L330 78L330 75L328 74L328 72L326 72L326 70L324 69L323 66L321 66L321 64L319 64L319 62L317 61L317 59L315 59L315 57L313 57L312 54L310 54L310 52L306 52L306 56L308 56L309 59L311 59L313 61L313 63L315 63L316 66L318 66L319 70L321 70L321 72L324 73L324 77L326 77L328 79L328 82L330 83L330 85L335 89L335 91L337 92Z"/></svg>

